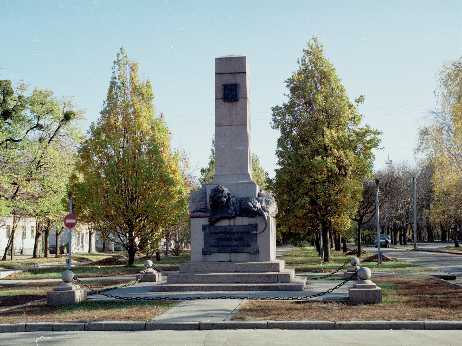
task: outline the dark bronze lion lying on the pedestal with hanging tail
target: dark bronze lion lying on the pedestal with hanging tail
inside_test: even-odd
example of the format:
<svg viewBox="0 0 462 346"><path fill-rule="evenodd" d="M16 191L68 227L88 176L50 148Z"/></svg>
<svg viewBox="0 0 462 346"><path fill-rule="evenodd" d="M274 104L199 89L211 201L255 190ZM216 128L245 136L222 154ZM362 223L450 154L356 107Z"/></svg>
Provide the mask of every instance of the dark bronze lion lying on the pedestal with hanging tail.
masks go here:
<svg viewBox="0 0 462 346"><path fill-rule="evenodd" d="M234 219L237 216L255 218L261 215L265 220L265 228L261 232L252 233L260 234L267 228L267 216L256 198L236 198L223 185L217 185L210 190L209 201L212 214L208 218L209 225L215 225L222 219Z"/></svg>

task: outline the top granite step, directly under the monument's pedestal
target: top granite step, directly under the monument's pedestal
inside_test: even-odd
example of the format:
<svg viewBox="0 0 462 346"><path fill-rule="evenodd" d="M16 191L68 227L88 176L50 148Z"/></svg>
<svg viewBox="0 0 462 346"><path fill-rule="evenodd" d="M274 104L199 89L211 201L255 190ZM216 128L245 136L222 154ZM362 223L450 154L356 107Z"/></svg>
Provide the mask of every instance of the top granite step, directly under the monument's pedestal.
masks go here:
<svg viewBox="0 0 462 346"><path fill-rule="evenodd" d="M259 262L188 262L180 264L180 273L265 273L280 272L286 261Z"/></svg>

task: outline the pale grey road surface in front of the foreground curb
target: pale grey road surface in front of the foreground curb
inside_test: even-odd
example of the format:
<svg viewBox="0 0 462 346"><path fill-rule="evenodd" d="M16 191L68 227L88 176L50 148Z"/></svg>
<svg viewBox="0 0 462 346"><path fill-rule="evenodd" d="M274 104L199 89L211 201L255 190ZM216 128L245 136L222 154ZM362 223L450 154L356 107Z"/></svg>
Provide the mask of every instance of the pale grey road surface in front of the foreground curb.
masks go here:
<svg viewBox="0 0 462 346"><path fill-rule="evenodd" d="M460 330L239 329L0 333L2 346L460 346L461 340Z"/></svg>

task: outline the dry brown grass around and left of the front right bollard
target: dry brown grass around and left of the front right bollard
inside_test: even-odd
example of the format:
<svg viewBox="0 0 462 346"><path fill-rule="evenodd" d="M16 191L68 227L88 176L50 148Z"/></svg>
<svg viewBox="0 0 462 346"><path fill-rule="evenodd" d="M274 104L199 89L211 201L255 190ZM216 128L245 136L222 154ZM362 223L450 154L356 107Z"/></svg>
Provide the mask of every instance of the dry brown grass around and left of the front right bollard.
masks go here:
<svg viewBox="0 0 462 346"><path fill-rule="evenodd" d="M462 320L462 287L426 275L374 275L382 304L248 301L233 320L372 321Z"/></svg>

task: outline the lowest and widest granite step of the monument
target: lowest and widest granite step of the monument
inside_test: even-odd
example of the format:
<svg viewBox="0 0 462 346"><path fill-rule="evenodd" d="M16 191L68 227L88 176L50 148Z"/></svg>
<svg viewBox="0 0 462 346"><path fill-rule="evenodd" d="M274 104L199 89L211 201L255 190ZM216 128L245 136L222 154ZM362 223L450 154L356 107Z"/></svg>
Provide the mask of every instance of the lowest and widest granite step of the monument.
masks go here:
<svg viewBox="0 0 462 346"><path fill-rule="evenodd" d="M170 284L162 283L152 286L152 292L219 292L219 291L303 291L305 280L294 278L288 283L268 284Z"/></svg>

